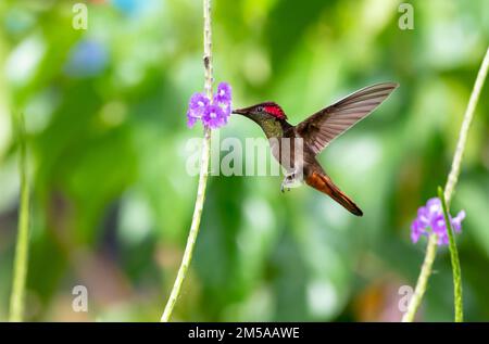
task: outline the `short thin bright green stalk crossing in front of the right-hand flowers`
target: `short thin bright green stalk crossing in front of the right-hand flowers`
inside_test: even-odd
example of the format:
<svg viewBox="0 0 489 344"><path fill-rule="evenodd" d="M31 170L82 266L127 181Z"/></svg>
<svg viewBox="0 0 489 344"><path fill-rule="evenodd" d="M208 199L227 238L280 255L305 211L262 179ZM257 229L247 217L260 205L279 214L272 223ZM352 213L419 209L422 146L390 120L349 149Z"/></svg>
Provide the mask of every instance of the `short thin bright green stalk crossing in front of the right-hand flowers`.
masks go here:
<svg viewBox="0 0 489 344"><path fill-rule="evenodd" d="M450 221L450 212L444 201L443 189L438 187L438 198L441 200L444 222L447 224L447 232L449 237L450 259L452 263L453 275L453 296L455 305L455 322L464 321L463 298L462 298L462 272L460 268L459 251L456 250L455 235L453 234L452 222Z"/></svg>

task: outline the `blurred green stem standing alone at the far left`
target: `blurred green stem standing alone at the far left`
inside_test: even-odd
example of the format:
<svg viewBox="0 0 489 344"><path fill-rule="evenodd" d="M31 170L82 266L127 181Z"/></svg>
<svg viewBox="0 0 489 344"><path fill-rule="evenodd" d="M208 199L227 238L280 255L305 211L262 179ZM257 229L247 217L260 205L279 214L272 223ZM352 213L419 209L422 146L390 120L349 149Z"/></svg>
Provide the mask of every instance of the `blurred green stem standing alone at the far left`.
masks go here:
<svg viewBox="0 0 489 344"><path fill-rule="evenodd" d="M17 242L10 295L9 321L22 321L24 317L25 282L29 245L29 181L27 176L27 143L24 115L14 115L14 128L20 144L18 168L21 174L21 200L18 207Z"/></svg>

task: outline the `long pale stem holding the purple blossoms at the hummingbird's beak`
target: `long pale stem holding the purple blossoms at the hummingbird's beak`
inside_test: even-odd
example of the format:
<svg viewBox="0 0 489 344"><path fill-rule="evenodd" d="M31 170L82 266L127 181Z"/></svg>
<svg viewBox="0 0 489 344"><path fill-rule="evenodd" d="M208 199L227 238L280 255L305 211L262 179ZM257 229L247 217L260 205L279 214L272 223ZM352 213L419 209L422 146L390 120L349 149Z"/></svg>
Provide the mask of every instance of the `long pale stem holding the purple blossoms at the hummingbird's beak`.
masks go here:
<svg viewBox="0 0 489 344"><path fill-rule="evenodd" d="M203 0L203 41L204 41L204 54L203 64L205 72L205 93L209 99L212 99L212 81L213 81L213 67L212 67L212 18L211 18L211 0ZM173 284L172 292L166 303L165 309L161 317L162 322L170 321L173 309L181 292L181 284L187 276L190 262L192 259L193 249L196 246L197 235L200 228L200 219L202 217L202 209L205 201L205 189L209 175L209 161L211 156L211 129L204 128L204 138L202 145L202 155L200 158L200 175L199 186L197 188L197 199L193 208L192 224L190 226L190 232L187 238L187 245L185 247L184 257L181 259L180 267L178 269L177 277Z"/></svg>

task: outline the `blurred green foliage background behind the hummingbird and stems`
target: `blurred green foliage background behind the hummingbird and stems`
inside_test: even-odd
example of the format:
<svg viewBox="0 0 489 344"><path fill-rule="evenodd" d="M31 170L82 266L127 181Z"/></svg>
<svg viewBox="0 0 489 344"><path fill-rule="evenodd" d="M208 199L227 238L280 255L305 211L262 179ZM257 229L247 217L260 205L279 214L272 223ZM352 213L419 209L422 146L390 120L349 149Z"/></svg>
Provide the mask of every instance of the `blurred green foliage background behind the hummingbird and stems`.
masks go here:
<svg viewBox="0 0 489 344"><path fill-rule="evenodd" d="M426 247L418 206L444 184L489 41L487 1L215 0L216 81L235 106L280 103L292 123L369 84L401 87L321 155L356 218L279 177L212 177L174 320L398 321ZM0 320L8 317L18 206L11 114L26 117L33 226L26 319L156 321L180 263L197 177L186 173L191 93L203 90L197 0L0 2ZM489 320L489 97L482 90L452 213L466 320ZM231 117L221 139L262 137ZM453 319L439 251L418 319ZM88 313L72 289L88 289Z"/></svg>

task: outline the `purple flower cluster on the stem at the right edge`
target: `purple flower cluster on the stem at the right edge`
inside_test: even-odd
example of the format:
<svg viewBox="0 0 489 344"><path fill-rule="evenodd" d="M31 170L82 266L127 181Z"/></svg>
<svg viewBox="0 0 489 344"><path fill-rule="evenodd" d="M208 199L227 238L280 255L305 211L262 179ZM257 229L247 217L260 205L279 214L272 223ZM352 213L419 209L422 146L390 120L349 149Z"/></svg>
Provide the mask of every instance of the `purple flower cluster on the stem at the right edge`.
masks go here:
<svg viewBox="0 0 489 344"><path fill-rule="evenodd" d="M455 218L450 216L450 222L455 232L460 233L462 231L462 220L464 218L464 211L460 212ZM421 235L429 235L429 228L438 235L438 245L448 245L449 237L439 199L430 199L426 202L426 206L417 209L417 217L411 225L411 240L416 243Z"/></svg>

